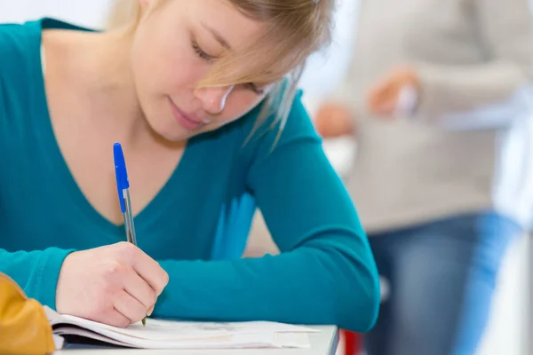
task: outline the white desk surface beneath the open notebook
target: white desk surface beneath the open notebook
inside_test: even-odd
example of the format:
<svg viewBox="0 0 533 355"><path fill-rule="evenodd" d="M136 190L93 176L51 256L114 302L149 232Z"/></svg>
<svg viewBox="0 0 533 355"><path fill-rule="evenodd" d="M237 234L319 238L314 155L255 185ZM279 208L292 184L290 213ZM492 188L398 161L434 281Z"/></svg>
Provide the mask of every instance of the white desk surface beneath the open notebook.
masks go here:
<svg viewBox="0 0 533 355"><path fill-rule="evenodd" d="M318 333L309 333L308 349L227 349L227 350L140 350L102 348L96 346L72 347L54 351L53 355L334 355L338 344L338 327L314 327Z"/></svg>

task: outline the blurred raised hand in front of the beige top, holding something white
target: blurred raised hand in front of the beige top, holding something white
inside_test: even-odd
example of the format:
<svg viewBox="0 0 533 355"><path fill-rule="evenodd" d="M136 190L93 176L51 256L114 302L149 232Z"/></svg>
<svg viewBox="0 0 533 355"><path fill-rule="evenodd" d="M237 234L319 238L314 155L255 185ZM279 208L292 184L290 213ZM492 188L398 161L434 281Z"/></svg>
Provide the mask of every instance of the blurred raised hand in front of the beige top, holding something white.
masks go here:
<svg viewBox="0 0 533 355"><path fill-rule="evenodd" d="M420 96L420 80L417 71L411 67L396 68L375 86L368 95L367 106L371 114L378 116L392 117L399 107L402 89L415 91L414 95ZM409 110L414 107L408 108Z"/></svg>

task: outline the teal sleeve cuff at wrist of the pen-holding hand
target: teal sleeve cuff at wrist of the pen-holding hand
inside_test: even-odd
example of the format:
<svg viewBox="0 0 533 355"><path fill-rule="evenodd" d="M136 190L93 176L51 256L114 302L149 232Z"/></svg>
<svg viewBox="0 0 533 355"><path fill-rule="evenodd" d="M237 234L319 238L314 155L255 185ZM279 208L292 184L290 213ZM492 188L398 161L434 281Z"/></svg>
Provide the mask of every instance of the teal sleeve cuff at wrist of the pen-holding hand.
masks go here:
<svg viewBox="0 0 533 355"><path fill-rule="evenodd" d="M69 253L60 248L14 253L0 249L0 272L17 282L29 298L55 310L60 269Z"/></svg>

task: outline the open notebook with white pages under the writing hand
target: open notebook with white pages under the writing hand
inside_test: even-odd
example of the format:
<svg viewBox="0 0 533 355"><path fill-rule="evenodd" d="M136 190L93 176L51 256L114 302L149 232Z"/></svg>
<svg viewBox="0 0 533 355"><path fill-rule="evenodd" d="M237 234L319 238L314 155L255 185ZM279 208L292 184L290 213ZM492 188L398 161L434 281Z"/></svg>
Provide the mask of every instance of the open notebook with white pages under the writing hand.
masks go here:
<svg viewBox="0 0 533 355"><path fill-rule="evenodd" d="M73 337L142 349L308 348L307 334L317 331L266 321L221 323L151 318L147 319L146 327L139 322L120 328L61 315L48 307L44 311L58 349Z"/></svg>

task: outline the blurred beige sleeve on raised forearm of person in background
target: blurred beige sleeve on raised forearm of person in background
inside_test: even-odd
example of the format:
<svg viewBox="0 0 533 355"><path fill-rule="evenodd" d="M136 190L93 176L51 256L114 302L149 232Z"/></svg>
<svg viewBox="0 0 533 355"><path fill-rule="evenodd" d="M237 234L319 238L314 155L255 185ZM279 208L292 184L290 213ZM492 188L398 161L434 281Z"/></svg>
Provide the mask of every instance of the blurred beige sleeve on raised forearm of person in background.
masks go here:
<svg viewBox="0 0 533 355"><path fill-rule="evenodd" d="M492 111L499 115L499 120L492 121L505 124L532 105L533 18L529 1L474 0L471 10L476 43L485 61L419 65L422 97L417 116L422 120L440 120L453 114L464 114L466 120L469 112L480 110L480 116Z"/></svg>

